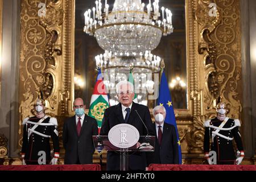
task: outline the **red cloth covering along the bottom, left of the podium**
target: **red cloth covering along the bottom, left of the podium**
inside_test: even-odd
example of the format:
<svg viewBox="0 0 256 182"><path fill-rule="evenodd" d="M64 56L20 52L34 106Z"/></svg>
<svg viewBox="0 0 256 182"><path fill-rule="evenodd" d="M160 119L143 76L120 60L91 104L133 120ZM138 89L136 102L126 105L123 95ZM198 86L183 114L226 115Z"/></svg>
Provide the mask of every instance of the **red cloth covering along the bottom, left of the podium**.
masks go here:
<svg viewBox="0 0 256 182"><path fill-rule="evenodd" d="M0 171L101 171L100 164L0 166Z"/></svg>

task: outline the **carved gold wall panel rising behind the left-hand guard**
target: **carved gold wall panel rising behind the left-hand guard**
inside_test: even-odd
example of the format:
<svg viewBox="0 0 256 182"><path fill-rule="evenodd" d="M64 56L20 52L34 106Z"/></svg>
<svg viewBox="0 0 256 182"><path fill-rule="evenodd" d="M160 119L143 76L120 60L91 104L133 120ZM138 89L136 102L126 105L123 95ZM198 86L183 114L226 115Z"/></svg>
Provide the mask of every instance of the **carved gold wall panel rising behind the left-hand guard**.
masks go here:
<svg viewBox="0 0 256 182"><path fill-rule="evenodd" d="M49 115L61 118L71 111L73 7L73 1L62 0L21 3L19 141L22 120L33 114L39 96L46 100Z"/></svg>

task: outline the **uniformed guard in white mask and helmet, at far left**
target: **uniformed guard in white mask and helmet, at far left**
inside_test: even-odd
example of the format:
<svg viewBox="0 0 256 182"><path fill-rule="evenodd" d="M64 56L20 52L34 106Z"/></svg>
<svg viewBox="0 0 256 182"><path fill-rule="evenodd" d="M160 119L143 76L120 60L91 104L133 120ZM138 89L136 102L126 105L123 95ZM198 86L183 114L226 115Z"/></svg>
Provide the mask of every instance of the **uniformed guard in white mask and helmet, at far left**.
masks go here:
<svg viewBox="0 0 256 182"><path fill-rule="evenodd" d="M23 120L23 165L56 164L59 158L59 133L57 131L57 119L44 114L44 100L38 98L34 105L35 117ZM54 156L51 159L52 138Z"/></svg>

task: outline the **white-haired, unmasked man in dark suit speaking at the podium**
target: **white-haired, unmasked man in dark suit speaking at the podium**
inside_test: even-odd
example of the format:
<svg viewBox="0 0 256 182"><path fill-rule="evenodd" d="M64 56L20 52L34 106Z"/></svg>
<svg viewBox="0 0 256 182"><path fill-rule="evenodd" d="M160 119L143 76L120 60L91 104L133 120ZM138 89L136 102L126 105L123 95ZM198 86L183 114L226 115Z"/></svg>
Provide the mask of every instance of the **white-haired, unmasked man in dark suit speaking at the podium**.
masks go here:
<svg viewBox="0 0 256 182"><path fill-rule="evenodd" d="M100 135L108 135L113 126L121 123L133 125L138 129L139 135L147 135L147 130L139 116L148 127L149 134L155 135L154 130L149 127L152 121L148 107L133 102L133 84L128 81L121 81L117 84L116 89L119 104L105 110ZM119 154L108 151L107 170L119 170L119 159ZM147 167L146 155L144 152L135 152L135 154L129 156L128 163L130 170L145 170Z"/></svg>

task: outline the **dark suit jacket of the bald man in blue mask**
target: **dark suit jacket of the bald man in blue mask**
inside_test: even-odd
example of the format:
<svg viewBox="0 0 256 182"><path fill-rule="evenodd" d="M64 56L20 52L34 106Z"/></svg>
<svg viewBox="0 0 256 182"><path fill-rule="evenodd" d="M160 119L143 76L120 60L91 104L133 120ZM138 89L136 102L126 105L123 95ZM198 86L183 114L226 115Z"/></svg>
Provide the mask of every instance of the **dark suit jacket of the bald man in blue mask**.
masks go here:
<svg viewBox="0 0 256 182"><path fill-rule="evenodd" d="M65 164L92 164L95 151L92 135L98 135L97 121L85 114L81 133L77 135L76 116L68 118L63 125Z"/></svg>

